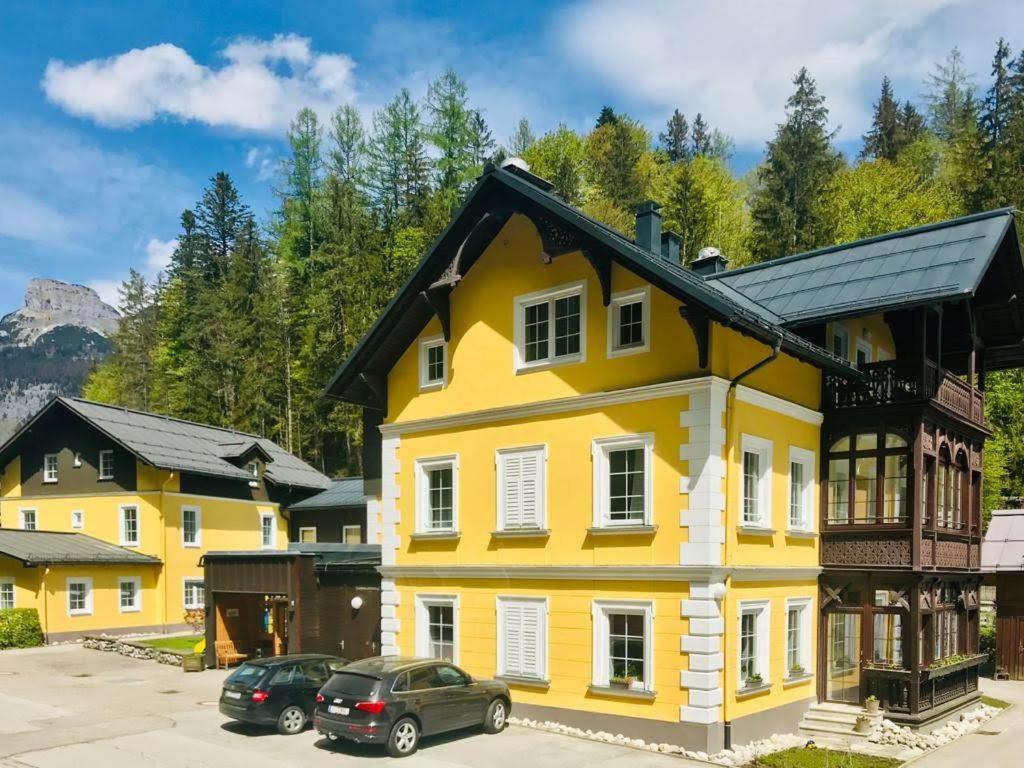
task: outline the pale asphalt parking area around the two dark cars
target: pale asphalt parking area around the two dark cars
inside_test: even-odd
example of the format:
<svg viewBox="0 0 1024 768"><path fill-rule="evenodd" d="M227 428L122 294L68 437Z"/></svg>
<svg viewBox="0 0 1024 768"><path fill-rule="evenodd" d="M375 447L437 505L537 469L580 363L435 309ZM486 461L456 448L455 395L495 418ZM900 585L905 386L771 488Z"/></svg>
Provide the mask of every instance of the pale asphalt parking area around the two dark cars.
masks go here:
<svg viewBox="0 0 1024 768"><path fill-rule="evenodd" d="M416 755L395 760L311 730L281 736L227 721L217 711L226 674L185 674L79 645L0 651L0 766L706 766L517 726L496 735L463 731L424 739Z"/></svg>

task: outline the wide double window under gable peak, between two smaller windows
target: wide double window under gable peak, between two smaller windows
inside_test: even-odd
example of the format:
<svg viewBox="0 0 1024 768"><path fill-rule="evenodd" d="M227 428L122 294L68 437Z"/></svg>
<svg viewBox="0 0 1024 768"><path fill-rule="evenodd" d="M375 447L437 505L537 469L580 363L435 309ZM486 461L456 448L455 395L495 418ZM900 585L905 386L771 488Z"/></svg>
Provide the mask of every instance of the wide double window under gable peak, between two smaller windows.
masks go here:
<svg viewBox="0 0 1024 768"><path fill-rule="evenodd" d="M587 284L515 299L515 370L586 359Z"/></svg>

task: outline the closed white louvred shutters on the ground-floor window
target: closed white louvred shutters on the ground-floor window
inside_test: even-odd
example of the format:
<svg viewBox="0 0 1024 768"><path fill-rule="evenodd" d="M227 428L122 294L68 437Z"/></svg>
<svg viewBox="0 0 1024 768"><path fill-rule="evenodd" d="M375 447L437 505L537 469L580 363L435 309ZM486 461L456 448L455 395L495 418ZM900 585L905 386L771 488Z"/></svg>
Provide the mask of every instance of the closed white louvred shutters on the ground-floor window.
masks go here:
<svg viewBox="0 0 1024 768"><path fill-rule="evenodd" d="M498 674L547 678L548 601L498 598Z"/></svg>

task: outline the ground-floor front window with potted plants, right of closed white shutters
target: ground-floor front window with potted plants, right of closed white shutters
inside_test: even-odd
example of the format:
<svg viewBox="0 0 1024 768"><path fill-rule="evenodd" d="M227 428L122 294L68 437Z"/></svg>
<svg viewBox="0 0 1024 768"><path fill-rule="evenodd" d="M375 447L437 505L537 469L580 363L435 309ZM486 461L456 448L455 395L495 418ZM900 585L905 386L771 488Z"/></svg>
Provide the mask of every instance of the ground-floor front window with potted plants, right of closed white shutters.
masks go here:
<svg viewBox="0 0 1024 768"><path fill-rule="evenodd" d="M653 691L653 603L595 600L593 615L594 685Z"/></svg>

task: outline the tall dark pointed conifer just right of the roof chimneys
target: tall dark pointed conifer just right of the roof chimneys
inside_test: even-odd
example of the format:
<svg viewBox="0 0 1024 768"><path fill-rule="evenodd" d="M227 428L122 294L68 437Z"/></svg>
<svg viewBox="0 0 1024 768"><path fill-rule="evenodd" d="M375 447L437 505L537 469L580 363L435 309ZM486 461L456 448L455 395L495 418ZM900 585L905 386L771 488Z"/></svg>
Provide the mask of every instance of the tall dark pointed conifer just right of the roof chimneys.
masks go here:
<svg viewBox="0 0 1024 768"><path fill-rule="evenodd" d="M768 142L758 169L752 202L752 255L765 261L828 242L817 203L842 167L833 146L828 110L814 78L802 69L796 92L786 101L785 121Z"/></svg>

